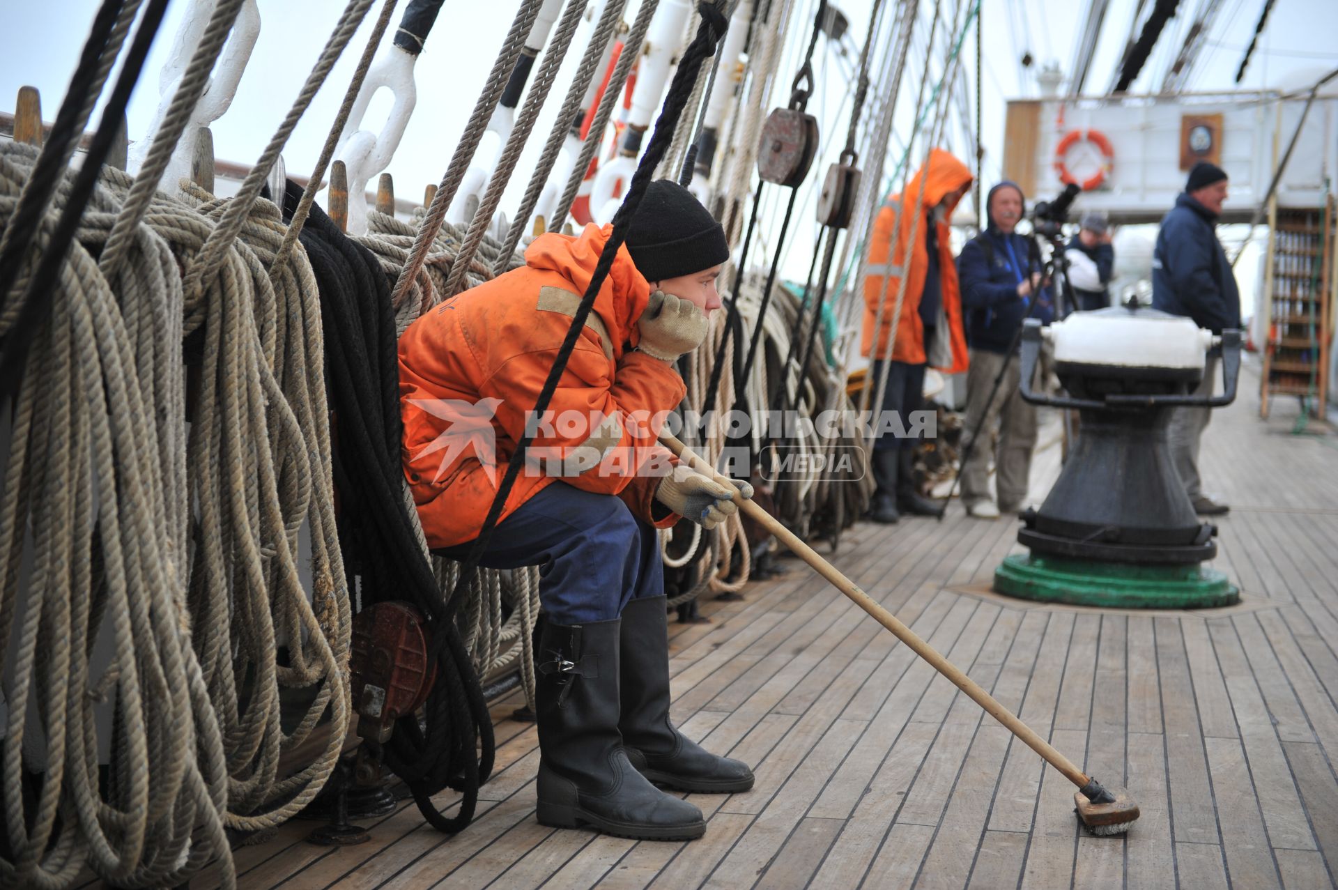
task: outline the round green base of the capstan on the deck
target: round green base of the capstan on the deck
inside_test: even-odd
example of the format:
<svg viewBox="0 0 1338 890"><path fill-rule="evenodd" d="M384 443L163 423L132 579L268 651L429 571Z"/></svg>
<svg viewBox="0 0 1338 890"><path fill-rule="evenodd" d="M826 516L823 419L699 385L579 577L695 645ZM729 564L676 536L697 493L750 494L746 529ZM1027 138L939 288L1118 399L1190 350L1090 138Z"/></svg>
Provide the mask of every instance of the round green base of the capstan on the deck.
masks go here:
<svg viewBox="0 0 1338 890"><path fill-rule="evenodd" d="M1211 609L1240 602L1224 574L1199 565L1129 565L1014 554L994 590L1022 600L1113 609Z"/></svg>

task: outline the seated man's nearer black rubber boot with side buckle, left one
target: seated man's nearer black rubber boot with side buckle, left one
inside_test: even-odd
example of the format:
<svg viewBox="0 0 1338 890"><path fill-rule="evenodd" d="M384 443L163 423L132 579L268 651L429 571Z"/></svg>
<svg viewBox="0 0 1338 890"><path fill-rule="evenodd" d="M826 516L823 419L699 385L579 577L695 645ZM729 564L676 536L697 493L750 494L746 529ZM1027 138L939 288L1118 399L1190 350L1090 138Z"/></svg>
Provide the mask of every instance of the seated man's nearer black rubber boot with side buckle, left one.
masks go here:
<svg viewBox="0 0 1338 890"><path fill-rule="evenodd" d="M621 621L545 624L539 648L539 824L637 840L692 840L701 811L637 772L618 733Z"/></svg>

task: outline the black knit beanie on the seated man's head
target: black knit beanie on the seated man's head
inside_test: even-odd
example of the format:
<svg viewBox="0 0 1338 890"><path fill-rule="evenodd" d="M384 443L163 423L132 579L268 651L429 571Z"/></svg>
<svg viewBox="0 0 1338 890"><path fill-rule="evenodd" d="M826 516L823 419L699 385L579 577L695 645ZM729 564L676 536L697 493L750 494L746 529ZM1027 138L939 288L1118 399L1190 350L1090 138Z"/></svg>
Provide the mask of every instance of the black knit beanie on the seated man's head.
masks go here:
<svg viewBox="0 0 1338 890"><path fill-rule="evenodd" d="M626 244L646 281L677 278L729 260L725 230L672 179L657 179L646 187Z"/></svg>

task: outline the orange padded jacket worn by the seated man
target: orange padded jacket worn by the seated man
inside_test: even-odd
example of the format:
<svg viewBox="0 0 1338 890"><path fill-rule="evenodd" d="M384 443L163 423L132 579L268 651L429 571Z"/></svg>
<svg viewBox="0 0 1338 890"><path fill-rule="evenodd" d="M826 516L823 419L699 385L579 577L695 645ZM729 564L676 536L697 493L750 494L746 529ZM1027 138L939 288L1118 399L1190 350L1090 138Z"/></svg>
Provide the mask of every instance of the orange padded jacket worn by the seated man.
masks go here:
<svg viewBox="0 0 1338 890"><path fill-rule="evenodd" d="M429 547L478 537L611 230L541 236L523 268L434 306L400 336L404 475ZM673 367L633 351L649 298L618 248L502 519L558 478L617 495L657 527L678 519L664 507L652 514L676 463L656 436L685 387ZM562 460L575 454L598 466L578 462L578 472Z"/></svg>

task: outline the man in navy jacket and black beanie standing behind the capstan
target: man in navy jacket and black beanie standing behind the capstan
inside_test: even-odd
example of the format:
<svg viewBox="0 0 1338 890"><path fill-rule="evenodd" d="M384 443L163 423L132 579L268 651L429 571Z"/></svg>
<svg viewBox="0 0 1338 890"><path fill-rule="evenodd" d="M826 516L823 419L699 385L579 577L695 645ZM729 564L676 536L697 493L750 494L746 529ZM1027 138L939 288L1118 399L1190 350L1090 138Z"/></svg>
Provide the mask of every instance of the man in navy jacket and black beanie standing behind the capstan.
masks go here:
<svg viewBox="0 0 1338 890"><path fill-rule="evenodd" d="M1161 219L1152 253L1152 306L1187 316L1214 333L1240 327L1240 293L1215 233L1226 199L1226 171L1203 161L1193 165L1184 193ZM1212 395L1216 376L1218 359L1210 357L1195 395ZM1167 431L1185 494L1202 515L1219 515L1230 509L1204 495L1199 479L1199 442L1211 416L1211 408L1176 408Z"/></svg>

